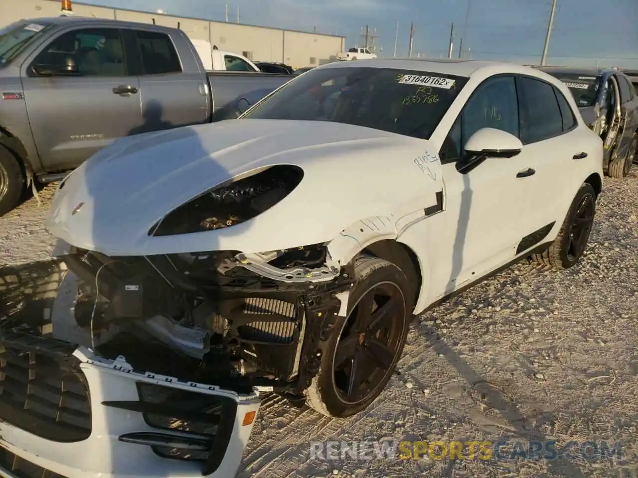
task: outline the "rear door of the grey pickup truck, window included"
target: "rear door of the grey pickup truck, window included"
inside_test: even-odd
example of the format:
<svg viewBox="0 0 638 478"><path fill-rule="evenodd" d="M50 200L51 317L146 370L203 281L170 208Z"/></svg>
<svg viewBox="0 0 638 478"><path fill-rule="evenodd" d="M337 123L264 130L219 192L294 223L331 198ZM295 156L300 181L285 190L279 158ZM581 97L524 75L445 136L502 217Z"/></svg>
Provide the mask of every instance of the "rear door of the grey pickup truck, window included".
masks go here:
<svg viewBox="0 0 638 478"><path fill-rule="evenodd" d="M136 133L209 120L208 79L188 37L140 28L124 30L124 38L138 63L144 121Z"/></svg>

